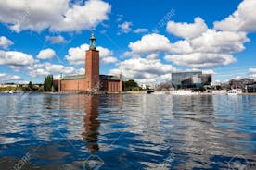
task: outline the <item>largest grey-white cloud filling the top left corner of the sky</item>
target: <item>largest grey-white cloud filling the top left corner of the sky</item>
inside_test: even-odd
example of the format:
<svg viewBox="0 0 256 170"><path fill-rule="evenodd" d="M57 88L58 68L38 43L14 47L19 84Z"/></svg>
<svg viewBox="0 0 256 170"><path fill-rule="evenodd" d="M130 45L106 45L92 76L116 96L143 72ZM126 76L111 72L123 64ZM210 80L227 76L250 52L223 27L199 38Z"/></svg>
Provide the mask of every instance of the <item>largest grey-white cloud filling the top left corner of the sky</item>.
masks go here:
<svg viewBox="0 0 256 170"><path fill-rule="evenodd" d="M81 31L108 19L111 6L101 0L72 4L70 0L0 1L0 21L11 30Z"/></svg>

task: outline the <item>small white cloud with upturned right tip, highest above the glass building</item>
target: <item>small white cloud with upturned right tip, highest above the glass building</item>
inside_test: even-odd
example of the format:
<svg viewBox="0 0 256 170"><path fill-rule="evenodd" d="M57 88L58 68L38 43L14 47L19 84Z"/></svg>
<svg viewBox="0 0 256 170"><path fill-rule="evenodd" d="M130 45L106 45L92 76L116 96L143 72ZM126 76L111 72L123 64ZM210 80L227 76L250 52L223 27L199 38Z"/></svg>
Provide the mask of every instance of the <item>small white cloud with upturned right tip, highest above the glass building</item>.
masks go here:
<svg viewBox="0 0 256 170"><path fill-rule="evenodd" d="M190 39L200 36L208 29L202 18L195 18L194 23L176 23L169 21L166 30L178 37Z"/></svg>

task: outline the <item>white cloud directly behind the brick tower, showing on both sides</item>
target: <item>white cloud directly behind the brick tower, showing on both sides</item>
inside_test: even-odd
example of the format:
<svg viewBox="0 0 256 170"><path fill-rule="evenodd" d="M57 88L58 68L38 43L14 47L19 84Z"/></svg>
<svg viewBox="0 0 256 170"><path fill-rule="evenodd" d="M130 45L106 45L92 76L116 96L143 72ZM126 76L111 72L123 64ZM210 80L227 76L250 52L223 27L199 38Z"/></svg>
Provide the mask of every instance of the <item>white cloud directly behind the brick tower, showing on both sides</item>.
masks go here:
<svg viewBox="0 0 256 170"><path fill-rule="evenodd" d="M66 55L65 58L69 61L70 65L84 65L85 51L88 49L88 44L72 47L69 49L69 55ZM116 57L112 56L113 52L108 48L98 46L97 50L99 51L100 62L102 64L116 63L118 61Z"/></svg>

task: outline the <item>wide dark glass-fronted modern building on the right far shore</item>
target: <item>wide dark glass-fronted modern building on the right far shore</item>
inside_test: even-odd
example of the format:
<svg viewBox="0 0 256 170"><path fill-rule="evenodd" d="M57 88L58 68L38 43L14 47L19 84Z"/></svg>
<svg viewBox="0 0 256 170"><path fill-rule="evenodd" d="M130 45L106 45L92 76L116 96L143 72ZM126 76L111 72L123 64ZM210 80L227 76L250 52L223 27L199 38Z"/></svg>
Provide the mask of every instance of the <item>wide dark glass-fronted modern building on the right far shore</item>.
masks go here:
<svg viewBox="0 0 256 170"><path fill-rule="evenodd" d="M202 71L173 72L171 77L174 89L193 89L211 85L211 74L202 74Z"/></svg>

